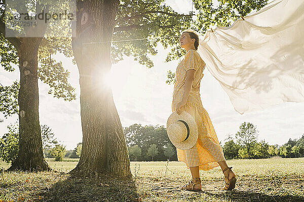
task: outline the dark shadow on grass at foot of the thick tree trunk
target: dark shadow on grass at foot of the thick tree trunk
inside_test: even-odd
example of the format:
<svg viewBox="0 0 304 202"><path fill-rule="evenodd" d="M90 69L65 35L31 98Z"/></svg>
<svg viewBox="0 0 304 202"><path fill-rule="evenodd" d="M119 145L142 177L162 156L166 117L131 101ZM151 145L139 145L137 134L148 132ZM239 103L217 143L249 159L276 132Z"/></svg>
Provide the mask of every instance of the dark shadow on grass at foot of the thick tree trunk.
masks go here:
<svg viewBox="0 0 304 202"><path fill-rule="evenodd" d="M139 201L135 182L110 176L82 178L68 176L42 190L38 201Z"/></svg>

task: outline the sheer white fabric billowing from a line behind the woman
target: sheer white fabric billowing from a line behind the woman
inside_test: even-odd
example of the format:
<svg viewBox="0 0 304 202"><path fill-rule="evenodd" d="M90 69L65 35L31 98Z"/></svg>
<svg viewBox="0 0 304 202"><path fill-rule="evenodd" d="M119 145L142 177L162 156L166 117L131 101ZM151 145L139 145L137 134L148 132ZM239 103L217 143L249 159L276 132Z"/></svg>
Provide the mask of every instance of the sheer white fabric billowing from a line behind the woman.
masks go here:
<svg viewBox="0 0 304 202"><path fill-rule="evenodd" d="M200 35L198 48L235 110L304 102L304 0L273 1L244 19Z"/></svg>

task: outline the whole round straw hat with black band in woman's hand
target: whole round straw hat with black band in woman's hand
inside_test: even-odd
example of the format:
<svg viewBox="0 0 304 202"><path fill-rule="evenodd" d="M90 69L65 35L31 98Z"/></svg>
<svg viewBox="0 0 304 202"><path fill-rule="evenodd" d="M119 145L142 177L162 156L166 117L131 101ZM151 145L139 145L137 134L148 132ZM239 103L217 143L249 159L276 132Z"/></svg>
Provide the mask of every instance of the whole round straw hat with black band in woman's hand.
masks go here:
<svg viewBox="0 0 304 202"><path fill-rule="evenodd" d="M167 121L167 134L176 148L187 150L197 143L198 126L191 114L173 112Z"/></svg>

